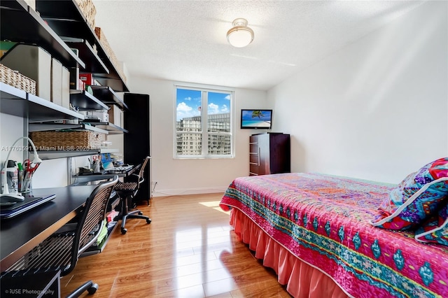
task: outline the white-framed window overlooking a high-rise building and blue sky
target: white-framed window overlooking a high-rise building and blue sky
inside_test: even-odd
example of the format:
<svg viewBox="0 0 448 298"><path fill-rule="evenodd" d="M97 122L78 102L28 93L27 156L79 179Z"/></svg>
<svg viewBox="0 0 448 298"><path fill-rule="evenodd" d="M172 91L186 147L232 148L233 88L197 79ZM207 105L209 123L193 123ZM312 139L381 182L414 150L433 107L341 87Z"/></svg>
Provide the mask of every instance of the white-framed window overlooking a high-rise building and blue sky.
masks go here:
<svg viewBox="0 0 448 298"><path fill-rule="evenodd" d="M176 86L175 157L233 156L232 97L228 90Z"/></svg>

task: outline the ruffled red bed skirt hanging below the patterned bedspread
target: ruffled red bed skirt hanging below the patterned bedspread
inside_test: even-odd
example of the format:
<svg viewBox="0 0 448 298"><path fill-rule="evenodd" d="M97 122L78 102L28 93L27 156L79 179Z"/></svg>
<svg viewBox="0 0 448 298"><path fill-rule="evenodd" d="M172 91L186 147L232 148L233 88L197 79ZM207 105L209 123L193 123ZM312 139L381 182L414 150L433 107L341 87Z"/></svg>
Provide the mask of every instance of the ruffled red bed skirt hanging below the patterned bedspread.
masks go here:
<svg viewBox="0 0 448 298"><path fill-rule="evenodd" d="M274 269L279 283L286 285L293 297L349 297L330 277L295 257L236 208L232 208L230 225L241 241L255 251L255 257L263 260L264 266Z"/></svg>

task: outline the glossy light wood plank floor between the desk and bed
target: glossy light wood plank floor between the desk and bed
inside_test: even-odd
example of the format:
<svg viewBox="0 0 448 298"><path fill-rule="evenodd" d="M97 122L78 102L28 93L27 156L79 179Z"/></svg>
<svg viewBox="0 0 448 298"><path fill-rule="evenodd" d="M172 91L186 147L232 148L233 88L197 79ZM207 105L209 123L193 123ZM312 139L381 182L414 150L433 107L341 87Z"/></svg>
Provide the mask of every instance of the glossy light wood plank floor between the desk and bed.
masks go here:
<svg viewBox="0 0 448 298"><path fill-rule="evenodd" d="M118 227L102 253L62 278L62 297L90 279L99 284L96 298L290 297L232 232L221 197L154 197L139 206L153 222L131 219L124 235Z"/></svg>

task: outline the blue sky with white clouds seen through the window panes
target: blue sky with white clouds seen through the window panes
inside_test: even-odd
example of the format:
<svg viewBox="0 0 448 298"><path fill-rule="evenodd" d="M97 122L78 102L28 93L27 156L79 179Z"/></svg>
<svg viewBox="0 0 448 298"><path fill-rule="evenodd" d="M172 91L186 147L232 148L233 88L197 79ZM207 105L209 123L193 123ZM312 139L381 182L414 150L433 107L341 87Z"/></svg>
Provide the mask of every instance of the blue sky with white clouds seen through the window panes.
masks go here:
<svg viewBox="0 0 448 298"><path fill-rule="evenodd" d="M201 91L177 89L176 92L176 119L177 121L201 115ZM208 114L221 114L230 112L230 94L209 92L207 105Z"/></svg>

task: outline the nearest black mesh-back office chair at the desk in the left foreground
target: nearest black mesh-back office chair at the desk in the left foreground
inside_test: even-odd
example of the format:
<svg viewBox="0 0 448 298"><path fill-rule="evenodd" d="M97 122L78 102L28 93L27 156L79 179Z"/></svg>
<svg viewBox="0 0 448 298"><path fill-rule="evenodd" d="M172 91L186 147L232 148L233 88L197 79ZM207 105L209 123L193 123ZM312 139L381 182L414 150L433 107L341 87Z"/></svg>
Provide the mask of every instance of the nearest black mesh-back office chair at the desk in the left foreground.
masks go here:
<svg viewBox="0 0 448 298"><path fill-rule="evenodd" d="M106 206L117 182L118 176L114 176L113 180L100 183L95 187L78 214L76 223L67 224L45 239L3 272L1 277L31 275L29 278L32 278L32 274L59 270L61 276L69 274L76 266L80 254L97 241L102 229L107 228L104 227ZM75 229L70 230L73 226ZM71 292L68 297L79 297L85 290L93 294L97 289L96 283L87 281Z"/></svg>

